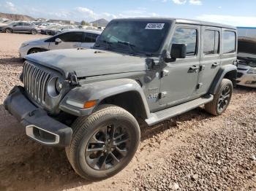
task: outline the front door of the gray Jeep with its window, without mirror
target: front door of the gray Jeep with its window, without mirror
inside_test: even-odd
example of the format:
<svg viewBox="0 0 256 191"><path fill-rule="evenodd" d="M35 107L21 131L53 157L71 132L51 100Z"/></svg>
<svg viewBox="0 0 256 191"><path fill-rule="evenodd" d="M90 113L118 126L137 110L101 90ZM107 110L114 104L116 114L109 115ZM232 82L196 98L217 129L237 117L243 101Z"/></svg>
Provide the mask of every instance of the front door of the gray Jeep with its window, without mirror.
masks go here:
<svg viewBox="0 0 256 191"><path fill-rule="evenodd" d="M195 97L200 59L200 26L177 25L171 44L187 44L187 57L162 67L160 104L173 106Z"/></svg>

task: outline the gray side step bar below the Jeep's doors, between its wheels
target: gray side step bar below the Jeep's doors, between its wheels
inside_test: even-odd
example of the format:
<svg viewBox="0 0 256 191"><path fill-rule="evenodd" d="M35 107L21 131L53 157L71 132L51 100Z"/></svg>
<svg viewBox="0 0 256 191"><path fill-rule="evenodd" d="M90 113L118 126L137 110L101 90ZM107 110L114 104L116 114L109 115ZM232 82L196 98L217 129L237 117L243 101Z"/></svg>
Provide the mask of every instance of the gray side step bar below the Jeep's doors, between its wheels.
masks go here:
<svg viewBox="0 0 256 191"><path fill-rule="evenodd" d="M200 105L206 104L214 99L214 95L206 95L203 98L197 98L195 100L189 101L184 104L180 104L178 106L173 106L171 108L151 113L151 117L146 119L146 123L151 126L155 125L158 122L162 122L167 120L170 117L174 117L179 114L183 114L184 112L188 112L191 109L195 109Z"/></svg>

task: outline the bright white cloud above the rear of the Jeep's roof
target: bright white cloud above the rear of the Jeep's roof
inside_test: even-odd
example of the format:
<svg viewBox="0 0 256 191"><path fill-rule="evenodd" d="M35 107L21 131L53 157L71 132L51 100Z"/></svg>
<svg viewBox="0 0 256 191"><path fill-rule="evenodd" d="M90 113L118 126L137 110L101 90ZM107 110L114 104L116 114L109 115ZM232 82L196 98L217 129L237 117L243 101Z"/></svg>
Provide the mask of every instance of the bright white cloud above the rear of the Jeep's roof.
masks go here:
<svg viewBox="0 0 256 191"><path fill-rule="evenodd" d="M223 23L230 26L256 26L256 17L243 17L231 15L200 15L195 17L198 20L206 20L214 23Z"/></svg>

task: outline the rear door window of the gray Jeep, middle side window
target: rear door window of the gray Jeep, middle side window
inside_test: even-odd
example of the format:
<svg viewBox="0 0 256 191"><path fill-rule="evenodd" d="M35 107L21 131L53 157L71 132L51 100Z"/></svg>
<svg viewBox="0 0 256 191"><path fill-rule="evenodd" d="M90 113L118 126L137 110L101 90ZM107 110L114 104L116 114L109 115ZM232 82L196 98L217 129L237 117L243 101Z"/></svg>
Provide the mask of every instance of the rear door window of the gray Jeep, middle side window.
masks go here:
<svg viewBox="0 0 256 191"><path fill-rule="evenodd" d="M219 53L219 31L204 31L203 53L205 55L214 55Z"/></svg>

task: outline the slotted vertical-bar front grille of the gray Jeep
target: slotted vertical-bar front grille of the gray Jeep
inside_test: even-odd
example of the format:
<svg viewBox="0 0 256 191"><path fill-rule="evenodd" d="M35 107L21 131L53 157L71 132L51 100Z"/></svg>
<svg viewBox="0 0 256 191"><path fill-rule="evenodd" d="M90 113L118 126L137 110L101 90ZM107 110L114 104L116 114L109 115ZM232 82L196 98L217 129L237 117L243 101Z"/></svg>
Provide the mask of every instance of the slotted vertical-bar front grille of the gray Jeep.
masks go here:
<svg viewBox="0 0 256 191"><path fill-rule="evenodd" d="M23 84L26 92L39 104L45 104L46 85L50 78L48 72L25 62L23 66Z"/></svg>

